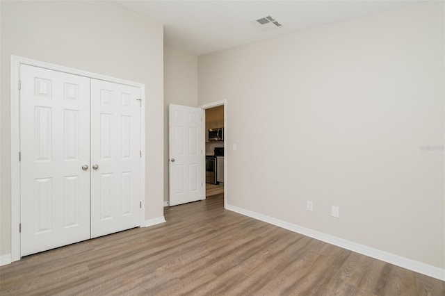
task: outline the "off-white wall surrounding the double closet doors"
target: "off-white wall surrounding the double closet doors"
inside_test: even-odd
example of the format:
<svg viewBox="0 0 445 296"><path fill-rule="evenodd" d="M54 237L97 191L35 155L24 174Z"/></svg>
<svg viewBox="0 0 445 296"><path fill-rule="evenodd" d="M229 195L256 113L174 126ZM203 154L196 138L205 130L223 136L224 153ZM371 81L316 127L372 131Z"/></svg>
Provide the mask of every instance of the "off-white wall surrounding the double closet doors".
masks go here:
<svg viewBox="0 0 445 296"><path fill-rule="evenodd" d="M145 83L146 219L163 216L163 27L109 1L1 1L1 243L10 254L10 56Z"/></svg>

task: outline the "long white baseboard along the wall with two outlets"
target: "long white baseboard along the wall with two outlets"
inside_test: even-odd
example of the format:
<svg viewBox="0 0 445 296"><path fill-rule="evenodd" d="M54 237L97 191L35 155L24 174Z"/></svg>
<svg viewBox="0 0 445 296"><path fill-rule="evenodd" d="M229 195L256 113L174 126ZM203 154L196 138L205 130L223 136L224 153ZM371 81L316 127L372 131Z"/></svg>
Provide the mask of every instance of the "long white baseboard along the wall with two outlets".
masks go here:
<svg viewBox="0 0 445 296"><path fill-rule="evenodd" d="M391 254L388 252L381 251L380 249L374 249L372 247L366 247L365 245L357 244L356 242L351 242L350 240L344 240L343 238L337 238L336 236L330 236L329 234L322 233L319 231L314 231L305 227L298 226L297 224L292 224L282 220L275 219L266 215L255 213L252 211L245 210L243 208L238 208L237 206L232 206L227 204L225 207L229 211L234 211L248 217L252 217L257 220L273 224L277 227L282 227L290 231L309 236L310 238L315 238L316 240L321 240L327 242L331 245L336 245L337 247L342 247L343 249L348 249L350 251L363 254L387 263L391 263L401 268L406 268L407 270L412 270L414 272L419 272L425 274L428 277L434 277L435 279L440 279L445 281L445 269L437 268L426 263L421 263L419 261L414 261L410 258L405 258L398 256L396 254Z"/></svg>

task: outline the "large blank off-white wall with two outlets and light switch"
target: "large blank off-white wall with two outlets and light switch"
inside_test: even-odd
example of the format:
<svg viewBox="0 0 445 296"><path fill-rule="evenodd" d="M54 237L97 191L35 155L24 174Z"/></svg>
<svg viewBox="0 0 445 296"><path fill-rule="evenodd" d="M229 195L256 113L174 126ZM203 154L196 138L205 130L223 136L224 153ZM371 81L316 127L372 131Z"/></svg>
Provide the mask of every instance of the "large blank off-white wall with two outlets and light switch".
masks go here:
<svg viewBox="0 0 445 296"><path fill-rule="evenodd" d="M200 56L198 81L238 145L227 204L445 268L443 2Z"/></svg>

